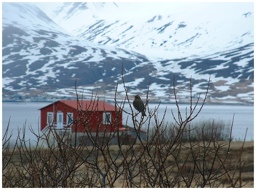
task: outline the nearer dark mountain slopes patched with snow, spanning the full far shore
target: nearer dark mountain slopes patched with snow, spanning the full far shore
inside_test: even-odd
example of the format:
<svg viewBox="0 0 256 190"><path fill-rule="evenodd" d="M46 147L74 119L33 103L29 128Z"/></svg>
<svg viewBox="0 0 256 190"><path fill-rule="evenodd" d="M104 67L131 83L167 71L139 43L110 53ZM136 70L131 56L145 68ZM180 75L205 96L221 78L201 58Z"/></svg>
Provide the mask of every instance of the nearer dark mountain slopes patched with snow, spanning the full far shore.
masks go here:
<svg viewBox="0 0 256 190"><path fill-rule="evenodd" d="M117 7L118 8L118 7ZM73 12L75 15L75 12ZM180 100L206 92L208 101L253 103L253 42L207 56L152 58L89 42L66 32L30 3L3 3L3 96L68 96L97 92L113 100L117 82L122 98L121 70L129 94L151 102L173 101L173 77Z"/></svg>

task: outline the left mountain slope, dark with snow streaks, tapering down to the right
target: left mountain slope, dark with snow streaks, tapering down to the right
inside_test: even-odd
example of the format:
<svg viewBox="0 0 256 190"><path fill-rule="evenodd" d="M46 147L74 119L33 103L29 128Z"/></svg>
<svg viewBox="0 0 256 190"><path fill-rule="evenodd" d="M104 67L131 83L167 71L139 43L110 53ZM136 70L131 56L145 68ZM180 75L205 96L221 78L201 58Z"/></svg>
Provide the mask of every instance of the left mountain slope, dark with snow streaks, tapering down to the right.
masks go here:
<svg viewBox="0 0 256 190"><path fill-rule="evenodd" d="M75 79L79 85L94 84L119 74L122 62L128 70L144 61L136 52L69 35L35 6L3 3L4 93L54 91L74 86Z"/></svg>

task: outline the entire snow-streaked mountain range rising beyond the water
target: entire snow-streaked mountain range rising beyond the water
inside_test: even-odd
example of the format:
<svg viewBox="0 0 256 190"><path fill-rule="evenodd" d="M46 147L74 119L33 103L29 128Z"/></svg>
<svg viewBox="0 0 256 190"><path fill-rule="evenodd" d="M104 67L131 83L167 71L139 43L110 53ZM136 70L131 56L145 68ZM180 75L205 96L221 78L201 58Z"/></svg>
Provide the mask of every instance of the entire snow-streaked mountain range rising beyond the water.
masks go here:
<svg viewBox="0 0 256 190"><path fill-rule="evenodd" d="M30 97L74 97L77 80L78 90L84 90L85 95L94 91L107 99L113 99L117 82L118 95L124 95L121 78L123 65L125 85L129 85L129 94L145 97L150 84L152 101L173 101L174 76L179 99L186 99L190 94L191 76L193 93L205 93L211 74L208 101L253 103L253 27L251 29L248 24L242 25L245 29L239 30L238 34L230 34L228 42L223 42L225 46L219 44L221 48L218 48L215 47L215 42L211 45L201 43L209 39L202 31L208 29L213 32L210 27L207 28L209 23L192 30L193 26L184 21L177 28L174 23L179 23L179 20L173 16L169 18L166 14L161 15L161 19L158 16L151 17L154 12L150 17L144 15L143 19L139 20L133 15L132 19L126 20L125 23L124 15L120 16L119 21L115 20L113 14L106 15L108 11L123 12L124 9L121 9L122 6L118 3L61 3L56 7L48 7L51 7L51 10L45 12L52 15L53 20L42 11L42 7L40 10L31 3L3 3L3 96L19 94ZM238 15L243 17L244 22L251 23L253 11L246 11L242 16L240 12ZM178 13L176 14L178 18ZM150 22L142 22L143 20ZM168 25L170 22L172 23ZM69 26L69 23L73 24ZM133 27L126 30L131 24ZM147 27L148 33L143 35ZM176 33L172 33L173 30L169 30L171 28L177 29ZM191 39L191 34L187 35L191 31L201 32ZM231 30L227 32L229 31ZM245 31L247 33L243 33ZM160 45L168 32L177 41ZM134 38L128 40L132 34ZM224 34L228 36L225 32ZM150 42L146 40L149 35L152 38ZM209 36L214 39L213 35ZM169 39L173 40L172 37ZM180 44L185 42L184 40L186 43ZM148 43L154 45L148 47ZM196 56L189 56L195 54L192 49L200 49L199 46L204 50ZM125 49L126 47L130 50ZM148 47L148 51L144 47ZM144 54L141 53L143 51L135 51L140 48L144 48ZM172 48L177 50L177 56ZM178 49L192 52L181 57ZM156 56L158 50L159 57ZM167 52L170 56L167 56ZM165 55L162 56L162 53Z"/></svg>

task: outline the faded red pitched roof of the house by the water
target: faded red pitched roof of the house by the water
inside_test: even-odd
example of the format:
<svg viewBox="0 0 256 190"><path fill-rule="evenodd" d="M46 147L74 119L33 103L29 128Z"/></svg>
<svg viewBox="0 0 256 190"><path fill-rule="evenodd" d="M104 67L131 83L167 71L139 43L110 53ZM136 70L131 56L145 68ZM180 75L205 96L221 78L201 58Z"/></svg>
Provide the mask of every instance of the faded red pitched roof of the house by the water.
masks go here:
<svg viewBox="0 0 256 190"><path fill-rule="evenodd" d="M70 106L74 109L78 109L79 111L80 106L77 105L77 100L59 100L59 101L55 101L52 104L55 104L57 102L60 102L61 104L65 104L67 106ZM83 100L83 101L79 101L81 106L83 107L83 111L115 111L115 106L113 106L112 104L109 104L105 101L92 101L92 100ZM48 106L52 105L49 104ZM48 107L45 106L45 107ZM41 108L44 109L45 107ZM40 110L41 110L40 109ZM119 110L119 108L117 108L117 110Z"/></svg>

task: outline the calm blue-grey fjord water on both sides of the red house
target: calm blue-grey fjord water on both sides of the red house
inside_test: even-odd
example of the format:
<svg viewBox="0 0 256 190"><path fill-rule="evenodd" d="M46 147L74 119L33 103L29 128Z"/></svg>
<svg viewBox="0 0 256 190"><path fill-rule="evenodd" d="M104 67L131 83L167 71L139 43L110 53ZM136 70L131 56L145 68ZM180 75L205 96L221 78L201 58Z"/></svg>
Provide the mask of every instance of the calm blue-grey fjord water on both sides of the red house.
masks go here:
<svg viewBox="0 0 256 190"><path fill-rule="evenodd" d="M40 126L40 108L48 105L50 103L38 103L38 102L28 102L28 103L16 103L16 102L3 102L2 113L3 113L3 128L2 137L6 131L9 123L9 133L13 130L13 139L17 138L18 128L23 128L26 123L25 137L31 140L36 140L35 136L30 132L29 128L32 128L35 133L38 133L38 128ZM155 109L157 104L149 104L149 109ZM166 111L166 122L173 122L173 116L171 110L173 110L174 116L177 116L177 108L174 104L161 104L158 109L158 119L163 118L164 111L167 106ZM186 106L181 104L179 108L181 114L185 117ZM189 106L188 106L189 109ZM128 105L125 105L125 110L131 112ZM233 114L233 132L232 136L235 140L243 140L246 128L248 128L246 141L251 141L254 139L253 136L253 106L234 106L234 105L204 105L202 111L198 115L197 119L214 119L215 121L221 119L223 121L232 122ZM128 117L128 124L131 125L131 117L128 114L123 113L123 118L126 120ZM124 123L123 123L124 124ZM13 140L14 141L14 140Z"/></svg>

